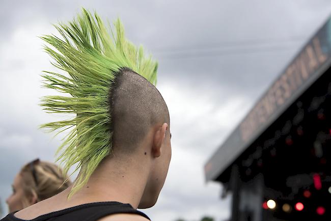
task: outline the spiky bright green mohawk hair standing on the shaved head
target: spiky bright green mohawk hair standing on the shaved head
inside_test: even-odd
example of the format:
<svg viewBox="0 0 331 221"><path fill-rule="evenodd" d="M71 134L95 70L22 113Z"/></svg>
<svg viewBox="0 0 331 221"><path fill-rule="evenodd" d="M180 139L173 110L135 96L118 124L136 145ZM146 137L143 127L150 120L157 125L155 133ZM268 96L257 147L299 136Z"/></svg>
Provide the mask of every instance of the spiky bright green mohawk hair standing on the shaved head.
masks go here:
<svg viewBox="0 0 331 221"><path fill-rule="evenodd" d="M141 74L156 84L157 62L146 57L143 47L136 47L124 37L121 21L103 24L97 13L94 16L82 9L68 24L54 25L61 34L41 37L44 49L54 59L52 64L61 73L43 71L44 87L64 93L64 96L46 96L41 106L48 113L67 113L70 119L41 125L49 131L68 131L57 151L64 173L75 163L79 170L72 196L97 168L100 161L112 150L112 116L109 93L116 73L124 67Z"/></svg>

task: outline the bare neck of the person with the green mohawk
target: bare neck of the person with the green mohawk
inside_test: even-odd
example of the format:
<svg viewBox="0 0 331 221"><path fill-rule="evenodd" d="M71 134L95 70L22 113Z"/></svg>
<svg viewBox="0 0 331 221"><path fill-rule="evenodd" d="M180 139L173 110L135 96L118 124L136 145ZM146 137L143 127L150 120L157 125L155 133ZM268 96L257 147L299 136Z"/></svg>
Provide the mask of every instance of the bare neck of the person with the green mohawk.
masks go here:
<svg viewBox="0 0 331 221"><path fill-rule="evenodd" d="M116 201L137 208L149 176L148 160L120 155L107 157L83 186L69 200L72 203ZM68 188L67 193L70 191Z"/></svg>

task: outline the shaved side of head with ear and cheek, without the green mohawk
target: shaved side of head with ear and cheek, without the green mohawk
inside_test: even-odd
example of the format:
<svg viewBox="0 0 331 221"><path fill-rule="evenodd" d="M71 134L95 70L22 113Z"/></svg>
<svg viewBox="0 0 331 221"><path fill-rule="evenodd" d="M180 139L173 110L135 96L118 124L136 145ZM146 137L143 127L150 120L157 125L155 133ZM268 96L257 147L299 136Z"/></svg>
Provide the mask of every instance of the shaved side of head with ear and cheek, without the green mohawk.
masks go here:
<svg viewBox="0 0 331 221"><path fill-rule="evenodd" d="M109 98L113 151L124 157L137 153L155 159L139 205L149 208L156 203L171 160L168 107L159 91L141 75L123 68L116 76Z"/></svg>

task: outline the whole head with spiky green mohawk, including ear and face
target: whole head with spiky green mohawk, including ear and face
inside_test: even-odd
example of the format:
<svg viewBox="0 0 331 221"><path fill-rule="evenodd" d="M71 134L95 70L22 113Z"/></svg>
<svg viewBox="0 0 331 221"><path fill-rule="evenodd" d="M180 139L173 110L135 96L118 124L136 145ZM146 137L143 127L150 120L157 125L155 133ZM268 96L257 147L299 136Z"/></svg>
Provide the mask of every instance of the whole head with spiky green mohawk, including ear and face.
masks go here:
<svg viewBox="0 0 331 221"><path fill-rule="evenodd" d="M66 94L44 97L41 105L51 113L75 116L42 127L60 132L69 129L59 160L65 172L78 163L79 174L68 198L114 151L128 155L137 147L152 147L157 160L141 202L141 207L150 207L158 197L171 158L169 113L154 87L157 62L125 38L119 19L114 25L116 32L109 32L96 13L92 16L83 9L69 24L57 26L62 39L42 37L53 64L62 70L46 72L44 86Z"/></svg>

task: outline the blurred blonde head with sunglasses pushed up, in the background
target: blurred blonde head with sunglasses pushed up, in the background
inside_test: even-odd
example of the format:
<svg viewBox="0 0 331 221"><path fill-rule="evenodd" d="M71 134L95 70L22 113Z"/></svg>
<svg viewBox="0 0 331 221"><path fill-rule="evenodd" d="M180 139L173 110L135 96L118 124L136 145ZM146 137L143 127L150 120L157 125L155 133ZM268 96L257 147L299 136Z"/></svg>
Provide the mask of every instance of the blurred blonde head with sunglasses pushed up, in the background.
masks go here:
<svg viewBox="0 0 331 221"><path fill-rule="evenodd" d="M70 184L56 164L37 159L24 165L15 176L13 192L6 203L10 212L21 210L57 195Z"/></svg>

